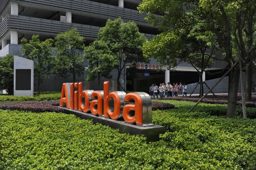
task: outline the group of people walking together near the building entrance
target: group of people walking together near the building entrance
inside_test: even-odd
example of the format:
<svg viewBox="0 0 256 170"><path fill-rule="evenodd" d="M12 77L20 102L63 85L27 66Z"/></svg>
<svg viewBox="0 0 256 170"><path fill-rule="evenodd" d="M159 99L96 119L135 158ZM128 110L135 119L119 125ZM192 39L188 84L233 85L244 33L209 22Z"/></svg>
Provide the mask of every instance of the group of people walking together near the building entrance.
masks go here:
<svg viewBox="0 0 256 170"><path fill-rule="evenodd" d="M171 85L169 82L166 83L160 83L159 87L154 83L149 87L149 93L151 95L151 99L155 99L155 96L158 98L158 92L160 94L160 98L163 97L174 97L178 96L178 94L187 96L187 86L185 83L178 84L173 83Z"/></svg>

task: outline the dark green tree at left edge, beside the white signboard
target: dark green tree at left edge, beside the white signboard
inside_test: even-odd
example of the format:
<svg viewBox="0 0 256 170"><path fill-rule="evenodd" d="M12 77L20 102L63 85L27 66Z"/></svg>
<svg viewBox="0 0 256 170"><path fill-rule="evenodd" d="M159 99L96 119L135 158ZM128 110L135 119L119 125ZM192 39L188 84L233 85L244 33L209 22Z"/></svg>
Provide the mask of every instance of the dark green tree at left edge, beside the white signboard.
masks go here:
<svg viewBox="0 0 256 170"><path fill-rule="evenodd" d="M0 59L0 89L13 95L13 55Z"/></svg>

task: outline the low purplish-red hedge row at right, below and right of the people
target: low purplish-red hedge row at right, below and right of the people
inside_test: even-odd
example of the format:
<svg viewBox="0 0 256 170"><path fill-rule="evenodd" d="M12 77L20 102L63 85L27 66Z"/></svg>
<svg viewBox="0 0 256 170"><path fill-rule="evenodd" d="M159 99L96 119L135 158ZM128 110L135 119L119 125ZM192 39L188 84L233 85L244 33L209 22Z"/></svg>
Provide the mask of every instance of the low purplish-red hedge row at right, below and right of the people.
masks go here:
<svg viewBox="0 0 256 170"><path fill-rule="evenodd" d="M237 105L242 106L242 96L241 94L237 95ZM181 100L181 101L192 101L197 102L199 100L199 96L191 96L191 97L165 97L165 98L158 98L158 100ZM203 100L202 103L209 103L209 104L228 104L228 95L207 95ZM256 107L256 95L252 96L251 102L246 102L246 107Z"/></svg>

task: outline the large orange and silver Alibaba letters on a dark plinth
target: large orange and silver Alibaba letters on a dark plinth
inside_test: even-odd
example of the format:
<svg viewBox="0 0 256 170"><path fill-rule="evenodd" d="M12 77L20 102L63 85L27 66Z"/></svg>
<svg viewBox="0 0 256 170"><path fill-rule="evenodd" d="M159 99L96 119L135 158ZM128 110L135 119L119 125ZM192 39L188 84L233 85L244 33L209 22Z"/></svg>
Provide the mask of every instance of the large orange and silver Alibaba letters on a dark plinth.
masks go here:
<svg viewBox="0 0 256 170"><path fill-rule="evenodd" d="M88 82L63 83L60 107L91 113L94 116L112 120L124 120L137 126L152 126L151 98L144 92L126 94L124 91L110 90L109 81L105 81L103 91L86 90Z"/></svg>

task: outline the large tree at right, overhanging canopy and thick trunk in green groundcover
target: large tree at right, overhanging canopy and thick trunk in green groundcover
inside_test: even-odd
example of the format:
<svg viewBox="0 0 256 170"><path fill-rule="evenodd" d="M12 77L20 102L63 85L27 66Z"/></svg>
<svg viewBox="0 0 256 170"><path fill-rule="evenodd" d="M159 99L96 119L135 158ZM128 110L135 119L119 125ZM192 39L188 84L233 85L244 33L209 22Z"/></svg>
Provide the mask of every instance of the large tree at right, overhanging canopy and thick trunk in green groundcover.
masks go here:
<svg viewBox="0 0 256 170"><path fill-rule="evenodd" d="M164 32L167 32L170 28L176 29L177 22L183 23L182 28L204 23L204 29L211 31L214 33L214 36L216 36L219 49L221 49L224 54L223 59L232 67L237 64L239 58L234 49L234 43L236 43L234 33L236 29L239 30L238 26L242 24L242 22L238 20L239 17L236 15L236 13L240 13L242 10L239 7L241 2L246 1L144 0L143 3L139 5L138 9L141 13L148 12L147 20L155 26L159 24L159 28ZM249 10L249 8L247 8L247 10ZM163 17L156 19L153 15L155 12L163 15ZM237 22L239 24L237 24ZM238 44L236 46L238 46ZM225 71L225 69L223 71ZM234 117L235 115L238 82L239 68L234 67L229 73L227 118Z"/></svg>

